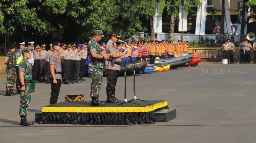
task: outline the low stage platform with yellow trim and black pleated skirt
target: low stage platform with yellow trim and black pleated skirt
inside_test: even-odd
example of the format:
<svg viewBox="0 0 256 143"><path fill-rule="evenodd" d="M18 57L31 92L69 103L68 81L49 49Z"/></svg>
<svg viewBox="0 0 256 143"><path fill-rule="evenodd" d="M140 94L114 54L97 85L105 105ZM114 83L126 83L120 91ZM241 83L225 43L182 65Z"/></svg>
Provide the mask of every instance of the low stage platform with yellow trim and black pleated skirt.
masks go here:
<svg viewBox="0 0 256 143"><path fill-rule="evenodd" d="M68 101L47 105L38 117L40 124L80 124L80 125L131 125L155 123L153 113L168 109L165 100L153 100L140 104L106 103L91 106L91 101Z"/></svg>

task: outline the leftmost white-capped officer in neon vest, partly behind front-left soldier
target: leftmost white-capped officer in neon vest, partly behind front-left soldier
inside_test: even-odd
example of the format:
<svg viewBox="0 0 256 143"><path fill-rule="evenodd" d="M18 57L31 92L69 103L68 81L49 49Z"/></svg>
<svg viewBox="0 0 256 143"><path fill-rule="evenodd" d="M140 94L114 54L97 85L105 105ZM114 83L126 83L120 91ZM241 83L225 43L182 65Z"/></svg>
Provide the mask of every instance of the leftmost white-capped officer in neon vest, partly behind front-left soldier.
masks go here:
<svg viewBox="0 0 256 143"><path fill-rule="evenodd" d="M20 85L20 75L18 74L19 73L19 65L20 65L20 62L22 61L23 59L23 55L22 55L22 49L25 48L25 42L22 42L22 43L19 43L18 44L20 46L20 49L16 52L16 93L17 94L20 94L20 91L18 90L18 86Z"/></svg>

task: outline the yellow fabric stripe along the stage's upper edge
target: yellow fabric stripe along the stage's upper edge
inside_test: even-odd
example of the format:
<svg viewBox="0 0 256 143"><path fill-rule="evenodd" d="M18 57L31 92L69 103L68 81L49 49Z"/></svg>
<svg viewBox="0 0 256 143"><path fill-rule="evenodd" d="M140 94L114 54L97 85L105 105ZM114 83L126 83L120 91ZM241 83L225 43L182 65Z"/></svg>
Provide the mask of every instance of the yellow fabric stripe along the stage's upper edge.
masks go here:
<svg viewBox="0 0 256 143"><path fill-rule="evenodd" d="M79 101L78 101L79 102ZM159 102L145 107L43 107L42 112L65 113L127 113L127 112L151 112L167 106L167 101Z"/></svg>

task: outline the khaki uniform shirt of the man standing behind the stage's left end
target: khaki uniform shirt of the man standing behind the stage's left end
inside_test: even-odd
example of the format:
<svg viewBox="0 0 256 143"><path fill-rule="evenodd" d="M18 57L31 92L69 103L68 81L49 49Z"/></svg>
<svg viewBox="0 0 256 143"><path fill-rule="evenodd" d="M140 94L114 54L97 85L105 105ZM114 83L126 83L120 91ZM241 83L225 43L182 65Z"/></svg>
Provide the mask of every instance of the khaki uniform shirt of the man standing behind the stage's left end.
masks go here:
<svg viewBox="0 0 256 143"><path fill-rule="evenodd" d="M61 59L59 54L55 53L54 51L50 54L49 57L50 64L54 65L54 70L57 72L61 72ZM52 75L50 75L53 78ZM61 74L55 74L56 79L62 79Z"/></svg>

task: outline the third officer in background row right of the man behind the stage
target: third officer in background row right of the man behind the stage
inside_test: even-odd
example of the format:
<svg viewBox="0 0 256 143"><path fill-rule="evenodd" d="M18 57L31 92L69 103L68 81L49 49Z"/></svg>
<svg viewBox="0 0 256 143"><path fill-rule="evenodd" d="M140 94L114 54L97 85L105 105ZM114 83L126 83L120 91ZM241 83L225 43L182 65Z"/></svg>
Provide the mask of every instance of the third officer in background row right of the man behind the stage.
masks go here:
<svg viewBox="0 0 256 143"><path fill-rule="evenodd" d="M69 81L72 83L76 83L76 80L74 79L74 75L76 74L76 43L72 43L72 47L70 50L70 59L71 64L69 68Z"/></svg>

